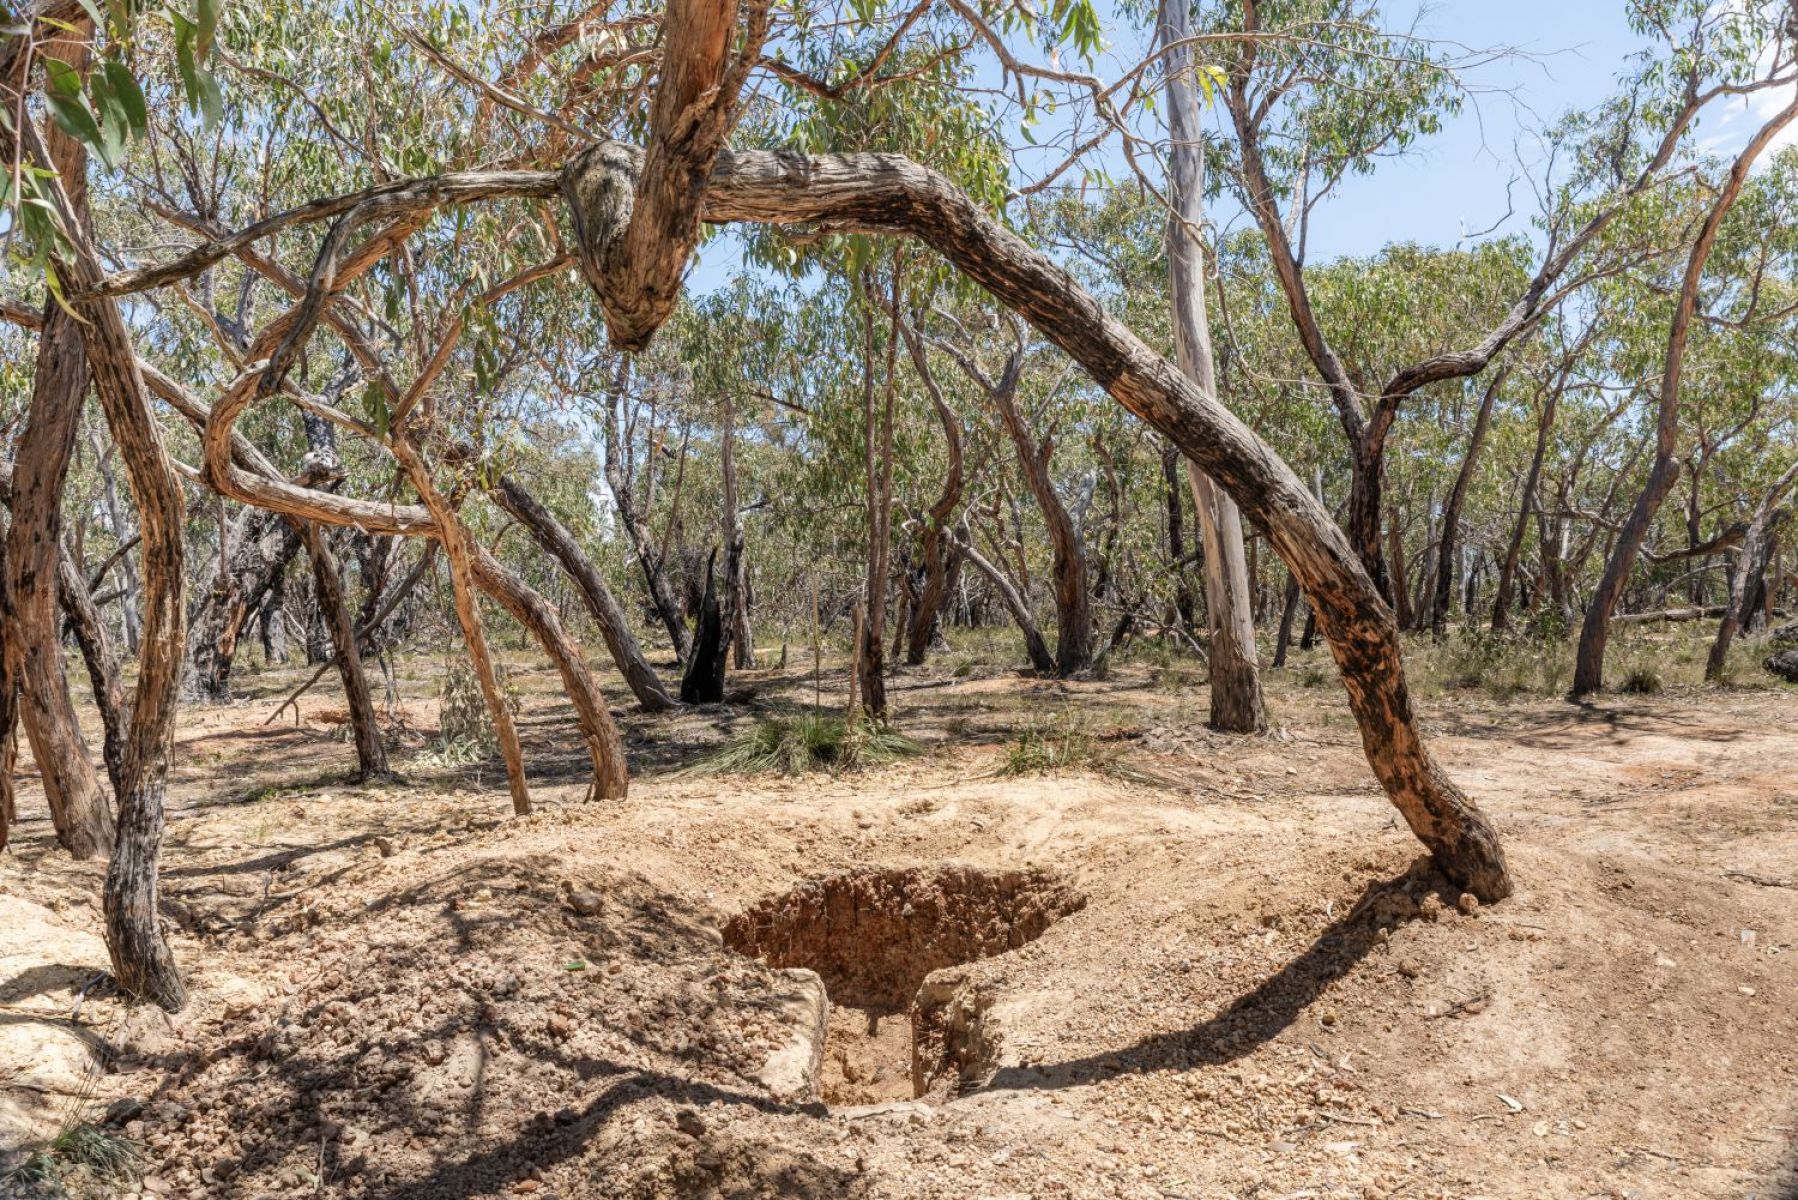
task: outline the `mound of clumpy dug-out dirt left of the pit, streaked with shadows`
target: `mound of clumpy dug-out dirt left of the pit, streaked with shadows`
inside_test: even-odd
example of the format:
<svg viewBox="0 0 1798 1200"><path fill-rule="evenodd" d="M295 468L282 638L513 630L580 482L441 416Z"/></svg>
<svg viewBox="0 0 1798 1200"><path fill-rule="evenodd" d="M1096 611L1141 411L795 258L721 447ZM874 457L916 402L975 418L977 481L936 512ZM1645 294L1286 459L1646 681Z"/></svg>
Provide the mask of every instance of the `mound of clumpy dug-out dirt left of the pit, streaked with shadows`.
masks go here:
<svg viewBox="0 0 1798 1200"><path fill-rule="evenodd" d="M448 869L397 855L426 878L327 914L277 995L214 1016L126 1126L156 1162L147 1187L849 1195L836 1169L698 1115L791 1110L757 1079L788 1038L770 970L638 878L557 885L554 860L509 849Z"/></svg>

